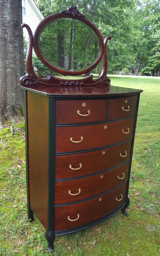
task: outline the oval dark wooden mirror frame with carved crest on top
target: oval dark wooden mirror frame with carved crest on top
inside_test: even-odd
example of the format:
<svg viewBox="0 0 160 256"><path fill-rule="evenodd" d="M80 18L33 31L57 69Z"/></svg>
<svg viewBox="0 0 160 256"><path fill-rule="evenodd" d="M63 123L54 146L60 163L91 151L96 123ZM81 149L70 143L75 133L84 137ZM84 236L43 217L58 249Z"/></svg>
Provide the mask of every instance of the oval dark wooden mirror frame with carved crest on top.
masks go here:
<svg viewBox="0 0 160 256"><path fill-rule="evenodd" d="M57 66L52 65L42 55L39 44L38 44L39 35L41 34L41 31L47 25L49 25L53 20L60 19L60 18L71 18L71 19L79 20L79 21L87 24L96 33L96 35L98 37L98 40L99 40L99 46L100 46L99 47L99 55L98 55L98 58L94 61L94 63L91 66L89 66L85 69L82 69L82 70L78 70L78 71L69 71L69 70L61 69L61 68L58 68ZM77 8L73 7L73 6L69 7L67 10L63 10L61 13L56 13L56 14L49 15L48 17L44 18L39 23L39 25L36 28L35 34L33 36L33 48L35 50L35 53L36 53L38 59L46 67L48 67L49 69L51 69L54 72L64 74L64 75L69 75L69 76L78 76L78 75L82 75L82 74L90 72L91 70L93 70L99 64L99 62L100 62L100 60L101 60L101 58L104 54L104 42L103 42L103 38L102 38L98 28L92 22L87 20L83 14L79 13Z"/></svg>

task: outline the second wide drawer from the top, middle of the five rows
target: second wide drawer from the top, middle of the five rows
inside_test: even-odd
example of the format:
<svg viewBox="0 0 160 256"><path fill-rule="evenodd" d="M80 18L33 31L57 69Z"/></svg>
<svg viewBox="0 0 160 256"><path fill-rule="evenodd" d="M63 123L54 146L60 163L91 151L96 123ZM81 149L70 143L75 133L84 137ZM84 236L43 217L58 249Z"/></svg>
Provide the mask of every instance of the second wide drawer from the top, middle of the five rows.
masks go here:
<svg viewBox="0 0 160 256"><path fill-rule="evenodd" d="M55 178L64 179L83 176L119 165L129 159L131 142L132 140L114 147L86 153L56 155ZM120 153L126 156L122 157Z"/></svg>

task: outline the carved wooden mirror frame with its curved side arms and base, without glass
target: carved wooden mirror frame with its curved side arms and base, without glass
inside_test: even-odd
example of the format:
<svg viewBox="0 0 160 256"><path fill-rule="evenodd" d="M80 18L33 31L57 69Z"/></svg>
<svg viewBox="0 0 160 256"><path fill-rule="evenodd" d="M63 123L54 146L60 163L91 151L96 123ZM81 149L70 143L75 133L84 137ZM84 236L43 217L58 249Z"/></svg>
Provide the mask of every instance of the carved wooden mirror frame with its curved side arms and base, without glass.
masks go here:
<svg viewBox="0 0 160 256"><path fill-rule="evenodd" d="M68 70L62 70L52 64L50 64L41 54L39 45L38 45L38 38L42 31L42 29L50 22L52 22L54 19L60 19L60 18L72 18L79 20L85 24L87 24L97 35L100 45L100 51L98 58L96 61L89 67L78 70L78 71L68 71ZM61 13L50 15L46 18L44 18L38 25L34 36L32 35L32 31L30 27L27 24L22 24L22 27L26 27L28 34L29 34L29 46L28 46L28 52L26 57L26 70L27 74L20 78L20 83L22 86L29 86L29 85L47 85L47 86L91 86L96 84L104 84L104 85L110 85L110 79L107 77L107 54L106 54L106 46L107 41L111 38L108 36L105 38L105 40L102 39L102 36L95 27L93 23L88 21L83 14L81 14L77 7L70 6L67 10L63 10ZM40 78L37 76L33 69L32 65L32 49L34 46L35 53L38 57L38 59L49 69L51 69L54 72L69 75L69 76L77 76L82 75L84 73L88 73L91 70L93 70L101 59L103 59L102 64L102 71L100 76L97 79L93 79L93 75L90 75L86 78L77 79L77 80L69 80L69 79L60 79L58 77L54 77L51 74L46 74L46 78Z"/></svg>

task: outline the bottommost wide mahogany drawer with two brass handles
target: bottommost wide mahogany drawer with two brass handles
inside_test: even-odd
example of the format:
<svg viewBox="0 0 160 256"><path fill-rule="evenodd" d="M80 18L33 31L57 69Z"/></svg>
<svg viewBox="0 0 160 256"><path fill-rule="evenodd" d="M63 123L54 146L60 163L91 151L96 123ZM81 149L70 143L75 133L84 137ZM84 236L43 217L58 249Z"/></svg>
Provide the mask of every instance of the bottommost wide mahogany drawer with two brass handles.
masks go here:
<svg viewBox="0 0 160 256"><path fill-rule="evenodd" d="M55 231L78 227L112 212L124 202L126 185L84 202L55 207Z"/></svg>

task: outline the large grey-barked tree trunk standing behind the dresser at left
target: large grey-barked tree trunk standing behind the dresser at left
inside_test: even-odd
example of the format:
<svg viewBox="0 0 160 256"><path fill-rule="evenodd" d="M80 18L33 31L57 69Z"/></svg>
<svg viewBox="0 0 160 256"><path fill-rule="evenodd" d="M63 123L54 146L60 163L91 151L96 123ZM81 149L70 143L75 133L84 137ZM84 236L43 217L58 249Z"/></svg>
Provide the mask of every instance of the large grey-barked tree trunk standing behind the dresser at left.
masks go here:
<svg viewBox="0 0 160 256"><path fill-rule="evenodd" d="M22 1L0 0L0 127L22 119L24 75Z"/></svg>

